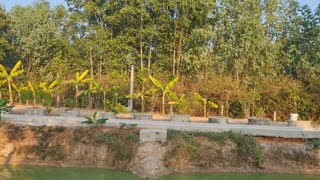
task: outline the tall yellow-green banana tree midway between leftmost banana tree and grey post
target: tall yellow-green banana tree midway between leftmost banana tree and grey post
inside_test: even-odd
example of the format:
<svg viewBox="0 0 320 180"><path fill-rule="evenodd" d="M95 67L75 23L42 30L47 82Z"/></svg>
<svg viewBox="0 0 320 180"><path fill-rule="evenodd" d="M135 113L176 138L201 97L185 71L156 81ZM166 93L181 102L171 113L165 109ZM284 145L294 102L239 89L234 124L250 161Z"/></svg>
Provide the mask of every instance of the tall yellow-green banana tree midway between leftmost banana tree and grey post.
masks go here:
<svg viewBox="0 0 320 180"><path fill-rule="evenodd" d="M79 72L76 72L75 79L71 79L68 81L69 84L72 84L75 87L74 98L76 100L76 106L78 105L78 97L84 93L83 90L79 90L79 87L84 86L86 83L89 83L92 81L92 78L86 78L88 73L89 73L89 70L85 70L81 74Z"/></svg>

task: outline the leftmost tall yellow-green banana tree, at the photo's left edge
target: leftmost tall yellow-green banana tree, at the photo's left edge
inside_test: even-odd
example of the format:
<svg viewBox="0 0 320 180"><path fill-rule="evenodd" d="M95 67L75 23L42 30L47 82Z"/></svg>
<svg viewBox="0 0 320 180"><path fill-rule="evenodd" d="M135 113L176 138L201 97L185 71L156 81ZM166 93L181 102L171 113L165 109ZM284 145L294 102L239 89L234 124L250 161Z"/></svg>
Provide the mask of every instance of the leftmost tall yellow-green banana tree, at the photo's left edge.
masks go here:
<svg viewBox="0 0 320 180"><path fill-rule="evenodd" d="M8 90L9 90L9 101L10 103L13 103L13 96L12 96L12 83L13 83L13 78L19 76L20 74L24 73L23 69L20 69L21 67L21 61L18 61L14 67L12 68L12 70L10 71L10 73L7 72L7 70L5 69L5 67L3 65L0 64L0 78L4 78L4 80L2 80L0 82L0 84L2 83L8 83ZM20 69L20 70L19 70Z"/></svg>

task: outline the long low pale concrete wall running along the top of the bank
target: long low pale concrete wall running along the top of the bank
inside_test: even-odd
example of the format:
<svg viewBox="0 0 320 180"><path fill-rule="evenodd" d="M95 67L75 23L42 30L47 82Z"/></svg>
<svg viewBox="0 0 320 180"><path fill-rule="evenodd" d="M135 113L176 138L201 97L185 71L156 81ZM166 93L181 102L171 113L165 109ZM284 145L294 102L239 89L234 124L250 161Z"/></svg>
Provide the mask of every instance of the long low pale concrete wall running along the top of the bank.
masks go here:
<svg viewBox="0 0 320 180"><path fill-rule="evenodd" d="M32 126L88 126L81 124L83 117L59 117L59 116L28 116L3 114L2 119L15 124ZM168 122L168 121L145 121L145 120L126 120L109 119L105 126L117 126L119 123L138 124L139 128L146 129L175 129L185 131L211 131L224 132L233 131L254 136L269 136L283 138L320 138L319 128L303 129L300 127L287 126L259 126L259 125L240 125L240 124L213 124L196 122Z"/></svg>

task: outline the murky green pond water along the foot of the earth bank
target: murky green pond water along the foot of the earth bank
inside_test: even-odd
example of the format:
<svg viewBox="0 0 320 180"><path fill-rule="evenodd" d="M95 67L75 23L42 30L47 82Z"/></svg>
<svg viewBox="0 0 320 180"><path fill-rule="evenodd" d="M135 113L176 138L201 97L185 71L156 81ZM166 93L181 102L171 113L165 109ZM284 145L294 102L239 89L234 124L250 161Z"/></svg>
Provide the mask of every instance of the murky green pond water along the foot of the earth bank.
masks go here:
<svg viewBox="0 0 320 180"><path fill-rule="evenodd" d="M1 180L138 180L128 172L96 168L0 166ZM160 180L320 180L320 176L294 174L215 173L169 175Z"/></svg>

